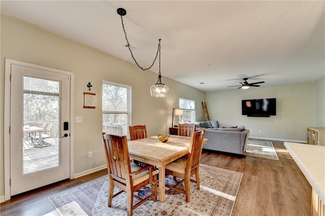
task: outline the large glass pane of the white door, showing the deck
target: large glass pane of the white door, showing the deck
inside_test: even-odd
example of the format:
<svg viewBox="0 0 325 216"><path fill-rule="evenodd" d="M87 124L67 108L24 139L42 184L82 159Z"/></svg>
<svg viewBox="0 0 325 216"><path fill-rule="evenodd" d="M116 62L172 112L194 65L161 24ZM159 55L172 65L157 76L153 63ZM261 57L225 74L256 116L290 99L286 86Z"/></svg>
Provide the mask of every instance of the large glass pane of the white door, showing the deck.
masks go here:
<svg viewBox="0 0 325 216"><path fill-rule="evenodd" d="M60 164L59 86L57 81L23 77L23 174Z"/></svg>

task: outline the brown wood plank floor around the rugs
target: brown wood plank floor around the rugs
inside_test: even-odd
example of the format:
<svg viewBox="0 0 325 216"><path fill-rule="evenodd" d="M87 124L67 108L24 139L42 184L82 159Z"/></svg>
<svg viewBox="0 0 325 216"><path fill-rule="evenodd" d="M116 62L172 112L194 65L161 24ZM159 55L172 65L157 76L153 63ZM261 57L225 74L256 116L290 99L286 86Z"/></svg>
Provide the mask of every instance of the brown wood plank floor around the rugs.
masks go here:
<svg viewBox="0 0 325 216"><path fill-rule="evenodd" d="M279 160L202 153L203 164L244 173L233 216L310 215L311 186L283 146L283 141L272 140L272 142ZM105 174L106 169L15 197L0 204L0 214L57 215L48 196Z"/></svg>

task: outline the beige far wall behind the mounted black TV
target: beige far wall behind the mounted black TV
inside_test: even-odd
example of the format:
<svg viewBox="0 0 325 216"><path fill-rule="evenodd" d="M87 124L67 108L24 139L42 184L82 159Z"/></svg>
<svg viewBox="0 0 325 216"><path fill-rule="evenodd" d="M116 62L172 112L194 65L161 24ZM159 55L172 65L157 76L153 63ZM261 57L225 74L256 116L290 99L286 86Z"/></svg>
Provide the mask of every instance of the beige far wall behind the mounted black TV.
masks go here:
<svg viewBox="0 0 325 216"><path fill-rule="evenodd" d="M244 125L252 130L250 137L305 140L306 127L316 125L315 89L315 82L236 89L207 92L206 100L210 117L218 120L221 127ZM274 97L277 100L276 116L270 118L242 116L241 100Z"/></svg>

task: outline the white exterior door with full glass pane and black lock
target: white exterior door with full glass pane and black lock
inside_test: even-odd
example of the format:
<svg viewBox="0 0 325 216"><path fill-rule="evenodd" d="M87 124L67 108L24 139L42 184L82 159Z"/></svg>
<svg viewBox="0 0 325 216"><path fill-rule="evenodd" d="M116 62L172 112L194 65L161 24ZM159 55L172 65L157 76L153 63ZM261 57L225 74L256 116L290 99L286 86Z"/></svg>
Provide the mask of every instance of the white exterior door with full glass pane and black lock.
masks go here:
<svg viewBox="0 0 325 216"><path fill-rule="evenodd" d="M44 68L11 64L11 196L70 177L71 79Z"/></svg>

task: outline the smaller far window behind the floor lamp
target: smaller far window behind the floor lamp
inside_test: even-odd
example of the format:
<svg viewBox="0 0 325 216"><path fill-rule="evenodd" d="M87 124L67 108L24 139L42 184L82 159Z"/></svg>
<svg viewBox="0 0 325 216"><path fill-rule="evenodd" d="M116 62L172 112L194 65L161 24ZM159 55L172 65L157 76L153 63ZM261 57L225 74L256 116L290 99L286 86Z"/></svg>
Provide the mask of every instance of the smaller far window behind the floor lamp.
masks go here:
<svg viewBox="0 0 325 216"><path fill-rule="evenodd" d="M179 98L179 109L183 110L183 115L179 117L179 123L195 122L195 100Z"/></svg>

